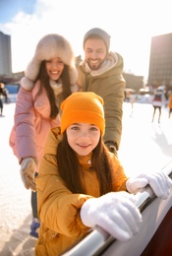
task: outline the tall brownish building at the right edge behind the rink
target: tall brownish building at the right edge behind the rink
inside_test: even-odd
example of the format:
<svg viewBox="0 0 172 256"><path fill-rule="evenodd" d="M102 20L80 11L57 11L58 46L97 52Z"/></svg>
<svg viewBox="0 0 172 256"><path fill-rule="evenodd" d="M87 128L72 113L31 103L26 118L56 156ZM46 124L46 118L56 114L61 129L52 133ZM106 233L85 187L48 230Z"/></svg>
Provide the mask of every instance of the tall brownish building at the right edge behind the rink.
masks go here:
<svg viewBox="0 0 172 256"><path fill-rule="evenodd" d="M159 86L172 90L172 33L151 38L148 86L152 90Z"/></svg>

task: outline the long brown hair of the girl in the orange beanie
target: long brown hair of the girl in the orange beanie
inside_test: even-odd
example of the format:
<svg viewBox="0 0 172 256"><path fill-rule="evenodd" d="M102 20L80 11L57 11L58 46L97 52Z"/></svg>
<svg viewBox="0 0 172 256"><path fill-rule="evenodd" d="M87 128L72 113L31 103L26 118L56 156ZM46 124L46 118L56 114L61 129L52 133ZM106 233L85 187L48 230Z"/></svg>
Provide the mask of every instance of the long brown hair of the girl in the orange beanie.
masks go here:
<svg viewBox="0 0 172 256"><path fill-rule="evenodd" d="M66 132L57 147L58 171L68 189L73 193L86 193L82 185L82 175L79 160L68 144ZM96 172L99 181L100 194L112 191L112 160L108 150L100 138L98 145L92 152L92 170Z"/></svg>

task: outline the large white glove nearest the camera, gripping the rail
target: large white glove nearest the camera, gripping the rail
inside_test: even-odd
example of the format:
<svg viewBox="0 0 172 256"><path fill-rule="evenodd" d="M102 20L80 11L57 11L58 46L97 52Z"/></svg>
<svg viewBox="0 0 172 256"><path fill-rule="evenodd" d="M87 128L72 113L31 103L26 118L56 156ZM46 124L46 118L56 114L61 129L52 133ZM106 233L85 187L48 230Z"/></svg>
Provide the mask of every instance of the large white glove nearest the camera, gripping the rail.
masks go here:
<svg viewBox="0 0 172 256"><path fill-rule="evenodd" d="M125 191L90 198L81 209L81 219L86 226L98 225L115 238L126 241L139 231L142 222L135 203L135 196Z"/></svg>

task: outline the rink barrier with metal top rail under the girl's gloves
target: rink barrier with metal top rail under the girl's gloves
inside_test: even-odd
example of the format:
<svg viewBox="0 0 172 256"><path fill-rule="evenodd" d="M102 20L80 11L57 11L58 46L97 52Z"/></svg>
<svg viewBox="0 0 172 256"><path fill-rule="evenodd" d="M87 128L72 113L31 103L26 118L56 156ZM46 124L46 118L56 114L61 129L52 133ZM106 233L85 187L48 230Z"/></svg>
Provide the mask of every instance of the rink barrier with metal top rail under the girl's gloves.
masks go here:
<svg viewBox="0 0 172 256"><path fill-rule="evenodd" d="M168 162L162 168L162 171L172 179L172 161ZM71 250L62 254L62 256L141 256L168 213L171 215L170 220L172 218L172 191L166 200L161 200L157 198L152 189L147 186L144 192L137 193L135 196L138 197L137 206L143 215L143 223L140 232L130 241L121 242L102 228L96 227L96 229L90 229L85 238L77 243ZM169 231L171 232L171 229ZM163 236L162 233L161 236ZM143 256L144 255L152 254L143 254Z"/></svg>

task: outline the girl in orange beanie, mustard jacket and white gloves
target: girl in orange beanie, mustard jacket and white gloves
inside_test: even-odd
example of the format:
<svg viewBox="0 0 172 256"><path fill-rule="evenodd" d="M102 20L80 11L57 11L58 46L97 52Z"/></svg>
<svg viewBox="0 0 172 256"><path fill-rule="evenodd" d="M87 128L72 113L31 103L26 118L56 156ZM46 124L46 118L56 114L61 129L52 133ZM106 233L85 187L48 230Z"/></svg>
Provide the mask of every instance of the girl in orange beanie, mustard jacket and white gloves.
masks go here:
<svg viewBox="0 0 172 256"><path fill-rule="evenodd" d="M35 179L39 237L35 255L60 255L99 225L120 240L139 231L136 193L149 184L166 198L172 181L164 173L130 179L103 143L103 99L74 93L62 104L61 129L51 129Z"/></svg>

